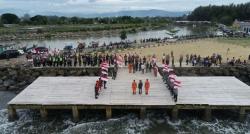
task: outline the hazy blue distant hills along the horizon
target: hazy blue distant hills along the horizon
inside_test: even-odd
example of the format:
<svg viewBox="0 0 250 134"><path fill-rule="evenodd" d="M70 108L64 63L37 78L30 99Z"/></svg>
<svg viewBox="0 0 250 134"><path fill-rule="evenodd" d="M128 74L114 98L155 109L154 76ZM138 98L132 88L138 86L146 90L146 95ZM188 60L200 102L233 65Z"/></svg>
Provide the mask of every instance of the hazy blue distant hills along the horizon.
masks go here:
<svg viewBox="0 0 250 134"><path fill-rule="evenodd" d="M28 11L25 10L16 10L16 9L0 9L0 14L3 13L14 13L17 14L18 16L23 16L25 13L29 13ZM87 17L87 18L92 18L92 17L116 17L116 16L132 16L132 17L156 17L156 16L161 16L161 17L180 17L185 14L188 14L189 12L183 11L183 12L171 12L171 11L164 11L164 10L131 10L131 11L119 11L119 12L107 12L107 13L93 13L93 14L84 14L84 13L62 13L62 12L42 12L42 13L35 13L35 14L30 14L31 16L34 15L57 15L57 16L67 16L67 17Z"/></svg>

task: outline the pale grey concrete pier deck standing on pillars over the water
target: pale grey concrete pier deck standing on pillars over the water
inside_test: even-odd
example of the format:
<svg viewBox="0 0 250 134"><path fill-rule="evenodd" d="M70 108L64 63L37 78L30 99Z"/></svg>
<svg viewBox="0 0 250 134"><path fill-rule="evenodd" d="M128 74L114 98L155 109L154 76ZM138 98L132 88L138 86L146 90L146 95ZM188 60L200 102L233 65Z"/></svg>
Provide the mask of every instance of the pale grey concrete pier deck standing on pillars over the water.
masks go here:
<svg viewBox="0 0 250 134"><path fill-rule="evenodd" d="M104 109L107 119L112 109L137 109L144 118L146 109L171 110L173 120L182 109L204 110L203 118L210 121L216 109L237 109L239 118L250 109L250 87L235 77L178 77L182 82L178 101L174 102L160 75L137 72L129 74L120 69L116 80L110 79L98 99L94 85L98 77L39 77L8 103L9 117L16 117L16 109L38 109L47 119L49 109L71 109L75 121L81 109ZM132 94L133 80L150 81L149 95Z"/></svg>

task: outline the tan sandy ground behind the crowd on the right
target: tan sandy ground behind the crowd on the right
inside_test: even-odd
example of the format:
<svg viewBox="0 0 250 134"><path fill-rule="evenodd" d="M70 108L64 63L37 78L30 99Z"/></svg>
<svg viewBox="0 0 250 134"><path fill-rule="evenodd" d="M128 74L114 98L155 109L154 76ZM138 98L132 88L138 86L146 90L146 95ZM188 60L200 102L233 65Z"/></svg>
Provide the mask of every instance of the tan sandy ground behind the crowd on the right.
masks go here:
<svg viewBox="0 0 250 134"><path fill-rule="evenodd" d="M235 57L243 59L248 59L248 56L250 54L250 42L249 46L241 46L237 44L230 44L230 43L223 43L219 42L216 39L202 39L202 40L196 40L196 41L185 41L185 42L179 42L179 43L172 43L169 45L161 45L156 47L150 47L150 48L138 48L138 49L128 49L120 52L121 54L125 53L137 53L141 56L151 56L155 54L157 58L160 60L162 58L162 55L169 54L171 51L174 52L174 57L177 62L180 55L182 54L184 57L186 54L197 54L201 55L202 57L205 56L211 56L213 53L221 54L223 57L223 61L225 62L227 57L229 59ZM229 48L229 52L227 53L227 50ZM185 59L185 58L184 58Z"/></svg>

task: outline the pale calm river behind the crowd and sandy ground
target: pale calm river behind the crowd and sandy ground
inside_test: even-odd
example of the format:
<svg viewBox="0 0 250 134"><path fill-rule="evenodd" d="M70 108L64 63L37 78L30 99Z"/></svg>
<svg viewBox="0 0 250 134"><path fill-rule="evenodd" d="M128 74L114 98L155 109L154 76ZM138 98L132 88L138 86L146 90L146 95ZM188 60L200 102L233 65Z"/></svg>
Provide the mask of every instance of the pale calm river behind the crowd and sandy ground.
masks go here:
<svg viewBox="0 0 250 134"><path fill-rule="evenodd" d="M164 28L160 28L157 30L149 30L149 31L140 31L136 33L128 33L127 39L130 41L140 41L141 39L148 38L165 38L170 37L167 33L169 30L178 30L176 36L185 36L185 35L193 35L193 34L206 34L211 32L211 27L208 26L200 26L200 27L192 27L192 26L167 26ZM26 41L12 41L12 42L0 42L0 45L5 44L16 44L16 47L32 47L33 45L44 46L51 49L63 49L66 45L72 45L74 48L77 47L77 42L85 42L89 45L92 41L97 41L99 44L109 44L109 42L120 42L121 39L119 35L98 35L91 36L85 38L78 39L52 39L52 40L26 40Z"/></svg>

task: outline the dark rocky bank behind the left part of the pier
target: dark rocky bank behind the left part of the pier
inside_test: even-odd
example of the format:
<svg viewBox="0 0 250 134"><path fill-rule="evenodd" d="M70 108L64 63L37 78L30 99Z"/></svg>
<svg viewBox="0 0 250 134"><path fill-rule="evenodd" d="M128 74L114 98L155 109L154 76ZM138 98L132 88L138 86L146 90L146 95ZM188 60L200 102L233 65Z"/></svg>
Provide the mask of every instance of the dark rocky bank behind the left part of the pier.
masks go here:
<svg viewBox="0 0 250 134"><path fill-rule="evenodd" d="M99 76L99 68L0 68L0 91L18 93L39 76Z"/></svg>

